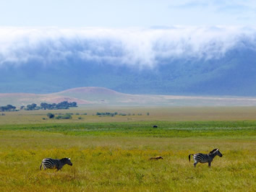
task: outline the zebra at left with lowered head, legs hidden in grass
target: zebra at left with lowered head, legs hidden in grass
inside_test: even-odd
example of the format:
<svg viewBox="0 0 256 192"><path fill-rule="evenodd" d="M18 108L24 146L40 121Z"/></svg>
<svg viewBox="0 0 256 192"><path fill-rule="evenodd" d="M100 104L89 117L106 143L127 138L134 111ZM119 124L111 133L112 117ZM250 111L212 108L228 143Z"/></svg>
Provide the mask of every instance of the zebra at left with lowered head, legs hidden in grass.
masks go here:
<svg viewBox="0 0 256 192"><path fill-rule="evenodd" d="M42 169L42 165L44 170L46 169L61 170L61 168L66 164L72 166L72 162L70 161L70 158L63 158L61 160L46 158L42 160L42 163L40 165L40 170Z"/></svg>

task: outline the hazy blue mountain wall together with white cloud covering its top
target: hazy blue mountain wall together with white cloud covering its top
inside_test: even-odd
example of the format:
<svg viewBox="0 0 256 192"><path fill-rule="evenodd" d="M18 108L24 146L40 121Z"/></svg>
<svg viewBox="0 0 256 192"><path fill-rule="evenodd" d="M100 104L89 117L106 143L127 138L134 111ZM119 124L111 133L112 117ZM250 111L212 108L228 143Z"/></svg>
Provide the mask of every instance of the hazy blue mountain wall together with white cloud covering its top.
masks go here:
<svg viewBox="0 0 256 192"><path fill-rule="evenodd" d="M256 95L254 28L4 32L1 93L106 87L129 94Z"/></svg>

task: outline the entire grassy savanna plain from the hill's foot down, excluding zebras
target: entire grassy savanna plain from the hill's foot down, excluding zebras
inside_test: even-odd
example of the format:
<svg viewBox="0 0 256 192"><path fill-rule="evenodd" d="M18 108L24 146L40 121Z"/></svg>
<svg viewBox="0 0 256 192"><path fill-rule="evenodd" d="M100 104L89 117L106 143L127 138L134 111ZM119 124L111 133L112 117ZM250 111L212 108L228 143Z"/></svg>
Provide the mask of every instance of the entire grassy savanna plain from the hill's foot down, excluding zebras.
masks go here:
<svg viewBox="0 0 256 192"><path fill-rule="evenodd" d="M255 107L4 112L0 191L255 191L255 146ZM210 168L189 162L215 148L223 157ZM163 160L149 160L155 156ZM46 157L73 165L40 170Z"/></svg>

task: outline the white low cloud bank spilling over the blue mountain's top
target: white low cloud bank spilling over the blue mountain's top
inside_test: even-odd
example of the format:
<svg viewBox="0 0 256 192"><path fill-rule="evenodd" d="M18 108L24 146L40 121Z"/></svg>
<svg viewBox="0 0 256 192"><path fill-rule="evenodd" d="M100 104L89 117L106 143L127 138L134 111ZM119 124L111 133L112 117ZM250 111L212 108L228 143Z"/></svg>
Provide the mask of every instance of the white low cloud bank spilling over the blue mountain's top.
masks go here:
<svg viewBox="0 0 256 192"><path fill-rule="evenodd" d="M48 65L74 59L153 68L176 58L221 58L235 47L256 50L254 27L157 29L0 28L0 67Z"/></svg>

